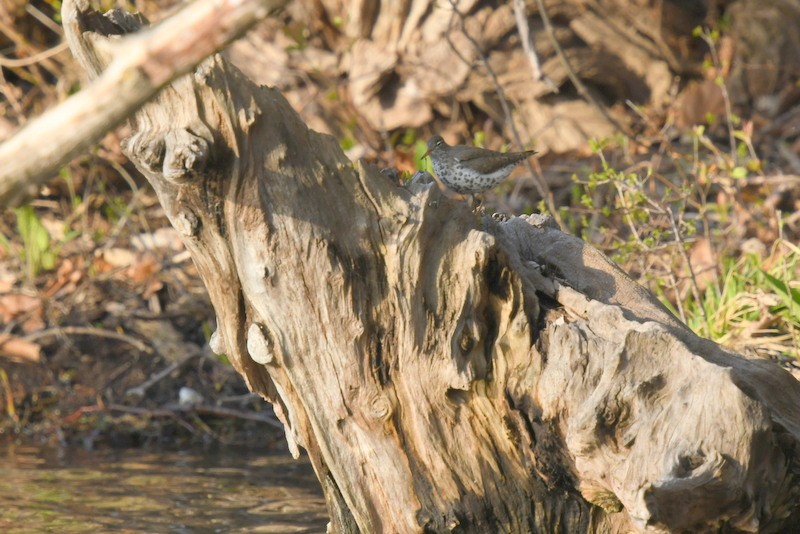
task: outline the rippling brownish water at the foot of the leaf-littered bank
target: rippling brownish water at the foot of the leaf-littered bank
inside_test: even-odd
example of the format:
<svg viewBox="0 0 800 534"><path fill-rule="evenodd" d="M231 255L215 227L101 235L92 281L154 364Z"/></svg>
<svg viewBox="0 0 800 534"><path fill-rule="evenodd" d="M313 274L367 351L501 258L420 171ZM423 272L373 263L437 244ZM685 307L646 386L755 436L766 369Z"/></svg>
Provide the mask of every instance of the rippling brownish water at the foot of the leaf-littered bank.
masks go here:
<svg viewBox="0 0 800 534"><path fill-rule="evenodd" d="M311 467L221 448L0 446L0 532L325 532Z"/></svg>

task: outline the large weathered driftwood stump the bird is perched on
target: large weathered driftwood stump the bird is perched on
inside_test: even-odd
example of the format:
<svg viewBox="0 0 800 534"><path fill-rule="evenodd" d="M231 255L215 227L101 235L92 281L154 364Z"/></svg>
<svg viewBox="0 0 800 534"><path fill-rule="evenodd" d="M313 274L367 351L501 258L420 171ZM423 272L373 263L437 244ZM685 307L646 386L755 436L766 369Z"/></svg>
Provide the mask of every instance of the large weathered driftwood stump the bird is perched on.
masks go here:
<svg viewBox="0 0 800 534"><path fill-rule="evenodd" d="M70 0L63 20L93 76L108 25L135 26ZM800 522L800 385L697 338L547 219L354 165L218 56L130 128L210 293L212 347L307 451L332 531Z"/></svg>

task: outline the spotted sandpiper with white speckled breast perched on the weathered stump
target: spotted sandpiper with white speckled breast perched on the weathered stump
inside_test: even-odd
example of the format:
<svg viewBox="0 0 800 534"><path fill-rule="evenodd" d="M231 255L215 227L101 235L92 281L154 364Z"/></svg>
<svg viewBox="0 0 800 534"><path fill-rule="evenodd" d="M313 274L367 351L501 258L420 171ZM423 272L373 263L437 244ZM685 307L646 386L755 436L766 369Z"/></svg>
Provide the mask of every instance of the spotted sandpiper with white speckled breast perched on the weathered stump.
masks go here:
<svg viewBox="0 0 800 534"><path fill-rule="evenodd" d="M448 189L462 195L475 195L491 189L511 173L525 158L536 154L495 152L471 146L450 146L438 135L428 140L428 151L436 176Z"/></svg>

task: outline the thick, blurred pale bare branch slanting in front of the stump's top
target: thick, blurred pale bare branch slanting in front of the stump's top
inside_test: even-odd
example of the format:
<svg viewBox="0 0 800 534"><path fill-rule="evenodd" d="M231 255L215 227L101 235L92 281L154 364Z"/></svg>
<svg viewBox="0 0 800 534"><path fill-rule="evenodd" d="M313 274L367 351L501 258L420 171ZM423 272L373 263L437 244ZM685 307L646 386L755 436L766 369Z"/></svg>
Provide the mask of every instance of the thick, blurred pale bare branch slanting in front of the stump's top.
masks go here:
<svg viewBox="0 0 800 534"><path fill-rule="evenodd" d="M239 37L286 0L198 0L141 36L123 40L89 87L0 145L0 205L19 204L172 80ZM64 24L86 0L65 1ZM91 73L97 76L97 72ZM59 135L53 135L58 132Z"/></svg>

